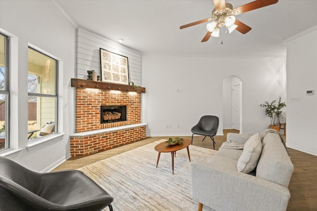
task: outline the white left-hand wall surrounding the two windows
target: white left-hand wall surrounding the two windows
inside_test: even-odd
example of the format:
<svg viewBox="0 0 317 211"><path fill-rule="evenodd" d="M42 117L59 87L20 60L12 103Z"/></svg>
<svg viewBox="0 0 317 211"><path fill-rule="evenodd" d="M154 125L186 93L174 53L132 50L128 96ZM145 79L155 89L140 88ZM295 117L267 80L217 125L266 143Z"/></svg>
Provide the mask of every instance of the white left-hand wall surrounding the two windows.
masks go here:
<svg viewBox="0 0 317 211"><path fill-rule="evenodd" d="M32 170L46 171L70 155L68 137L75 129L75 89L70 87L70 79L75 77L76 30L52 1L38 0L1 0L0 28L16 36L12 40L16 47L11 49L16 55L11 58L10 135L13 144L10 150L19 153L13 160ZM60 60L58 132L65 134L62 139L27 150L28 114L25 108L29 43ZM2 151L1 155L3 153L7 152Z"/></svg>

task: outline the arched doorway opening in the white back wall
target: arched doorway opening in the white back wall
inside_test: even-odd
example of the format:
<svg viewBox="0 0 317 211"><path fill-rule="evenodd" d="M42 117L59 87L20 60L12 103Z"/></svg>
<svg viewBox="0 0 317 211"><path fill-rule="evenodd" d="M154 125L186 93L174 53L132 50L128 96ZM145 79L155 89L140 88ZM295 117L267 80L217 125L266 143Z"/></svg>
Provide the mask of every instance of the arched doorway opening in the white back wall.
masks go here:
<svg viewBox="0 0 317 211"><path fill-rule="evenodd" d="M229 76L223 80L223 129L242 133L242 81Z"/></svg>

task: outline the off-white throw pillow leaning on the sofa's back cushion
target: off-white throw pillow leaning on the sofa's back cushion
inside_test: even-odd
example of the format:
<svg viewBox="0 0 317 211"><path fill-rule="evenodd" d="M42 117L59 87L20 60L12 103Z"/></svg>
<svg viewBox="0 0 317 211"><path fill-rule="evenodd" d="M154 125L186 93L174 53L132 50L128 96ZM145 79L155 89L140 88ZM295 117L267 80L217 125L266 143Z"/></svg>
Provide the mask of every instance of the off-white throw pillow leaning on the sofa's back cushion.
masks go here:
<svg viewBox="0 0 317 211"><path fill-rule="evenodd" d="M238 160L237 169L243 173L250 173L257 167L262 152L259 133L252 135L244 144L243 152Z"/></svg>

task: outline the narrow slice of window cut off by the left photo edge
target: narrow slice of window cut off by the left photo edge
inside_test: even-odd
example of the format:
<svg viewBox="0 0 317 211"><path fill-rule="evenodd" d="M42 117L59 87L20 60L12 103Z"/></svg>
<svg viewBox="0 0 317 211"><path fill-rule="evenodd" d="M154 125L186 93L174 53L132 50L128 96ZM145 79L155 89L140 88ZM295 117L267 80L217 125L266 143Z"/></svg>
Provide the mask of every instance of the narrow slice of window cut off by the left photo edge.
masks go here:
<svg viewBox="0 0 317 211"><path fill-rule="evenodd" d="M0 150L9 148L9 38L0 34Z"/></svg>

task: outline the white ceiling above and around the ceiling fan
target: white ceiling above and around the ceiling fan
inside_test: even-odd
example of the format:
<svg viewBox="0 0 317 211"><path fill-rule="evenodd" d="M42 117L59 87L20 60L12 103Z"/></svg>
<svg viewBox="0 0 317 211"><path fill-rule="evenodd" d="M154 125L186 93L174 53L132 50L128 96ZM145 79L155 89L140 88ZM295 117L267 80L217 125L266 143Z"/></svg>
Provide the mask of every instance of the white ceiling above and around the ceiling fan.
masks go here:
<svg viewBox="0 0 317 211"><path fill-rule="evenodd" d="M252 0L226 0L237 7ZM212 0L55 0L79 27L142 53L211 56L280 57L283 40L317 25L317 0L279 0L236 18L252 30L201 42L206 24L180 30L209 18ZM221 44L221 41L223 42Z"/></svg>

